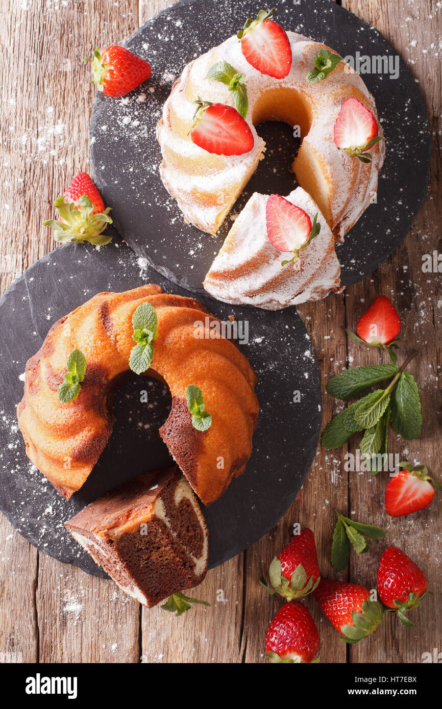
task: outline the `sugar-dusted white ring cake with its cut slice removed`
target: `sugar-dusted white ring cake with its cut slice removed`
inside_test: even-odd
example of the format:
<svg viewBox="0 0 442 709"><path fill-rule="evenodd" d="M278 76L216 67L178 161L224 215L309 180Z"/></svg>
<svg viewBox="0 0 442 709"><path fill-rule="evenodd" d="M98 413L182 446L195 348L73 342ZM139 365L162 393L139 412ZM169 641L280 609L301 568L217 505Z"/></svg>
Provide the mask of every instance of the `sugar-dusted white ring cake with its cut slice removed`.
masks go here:
<svg viewBox="0 0 442 709"><path fill-rule="evenodd" d="M241 43L233 36L187 65L165 102L157 128L162 181L184 219L204 231L216 232L255 172L265 150L255 125L265 120L300 126L302 145L293 164L297 182L318 204L338 240L365 211L377 188L385 154L383 141L370 149L371 164L363 164L333 143L333 126L348 97L362 101L377 118L375 101L363 80L346 62L340 62L326 79L309 84L306 76L314 68L315 55L321 48L329 48L293 32L287 35L292 69L284 79L268 77L248 64ZM246 121L255 138L253 150L245 155L211 155L194 145L189 136L197 96L233 105L228 86L205 78L209 68L221 60L245 74Z"/></svg>

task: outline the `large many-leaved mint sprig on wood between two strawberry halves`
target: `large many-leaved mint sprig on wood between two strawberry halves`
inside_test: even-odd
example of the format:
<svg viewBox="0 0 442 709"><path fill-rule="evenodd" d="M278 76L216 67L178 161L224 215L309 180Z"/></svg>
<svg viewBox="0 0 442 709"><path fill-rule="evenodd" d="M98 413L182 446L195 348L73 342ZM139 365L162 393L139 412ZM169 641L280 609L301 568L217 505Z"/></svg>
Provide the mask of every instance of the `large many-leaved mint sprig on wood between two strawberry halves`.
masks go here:
<svg viewBox="0 0 442 709"><path fill-rule="evenodd" d="M344 401L380 381L392 381L386 389L365 394L338 413L324 430L321 439L324 448L341 448L353 433L364 431L360 451L368 468L376 473L380 458L387 454L389 423L403 438L419 438L422 427L419 390L414 376L404 372L416 354L416 351L413 352L399 368L394 364L354 367L331 378L327 385L328 393Z"/></svg>

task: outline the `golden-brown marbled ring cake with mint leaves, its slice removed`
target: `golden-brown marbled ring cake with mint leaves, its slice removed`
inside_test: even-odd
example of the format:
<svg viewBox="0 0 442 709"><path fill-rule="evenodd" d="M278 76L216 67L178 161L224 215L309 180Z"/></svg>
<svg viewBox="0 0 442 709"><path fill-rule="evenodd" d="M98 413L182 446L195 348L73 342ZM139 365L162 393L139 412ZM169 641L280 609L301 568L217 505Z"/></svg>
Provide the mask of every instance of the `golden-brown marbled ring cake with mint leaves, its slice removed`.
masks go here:
<svg viewBox="0 0 442 709"><path fill-rule="evenodd" d="M100 293L50 329L26 364L17 408L28 457L67 499L84 484L109 440L116 387L126 376L135 376L128 367L135 345L131 320L145 301L158 317L146 374L165 381L172 394L161 435L201 501L219 498L250 457L259 410L255 373L230 340L209 332L205 338L194 336L196 322L210 325L217 318L194 298L165 294L156 285ZM86 373L77 398L61 403L57 389L75 348L86 357ZM192 427L185 401L189 384L199 386L212 415L211 428L204 432Z"/></svg>

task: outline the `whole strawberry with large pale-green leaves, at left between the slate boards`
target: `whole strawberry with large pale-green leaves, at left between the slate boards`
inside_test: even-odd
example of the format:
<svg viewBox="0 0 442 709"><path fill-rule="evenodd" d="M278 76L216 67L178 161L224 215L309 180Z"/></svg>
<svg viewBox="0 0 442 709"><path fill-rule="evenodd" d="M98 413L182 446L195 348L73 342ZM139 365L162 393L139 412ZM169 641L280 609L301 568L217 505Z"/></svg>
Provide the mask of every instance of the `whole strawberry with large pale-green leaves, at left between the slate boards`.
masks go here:
<svg viewBox="0 0 442 709"><path fill-rule="evenodd" d="M57 197L54 206L60 221L50 219L43 224L55 229L57 241L89 241L96 246L111 241L109 234L101 233L112 223L111 208L104 208L101 195L86 172L74 177L65 196Z"/></svg>

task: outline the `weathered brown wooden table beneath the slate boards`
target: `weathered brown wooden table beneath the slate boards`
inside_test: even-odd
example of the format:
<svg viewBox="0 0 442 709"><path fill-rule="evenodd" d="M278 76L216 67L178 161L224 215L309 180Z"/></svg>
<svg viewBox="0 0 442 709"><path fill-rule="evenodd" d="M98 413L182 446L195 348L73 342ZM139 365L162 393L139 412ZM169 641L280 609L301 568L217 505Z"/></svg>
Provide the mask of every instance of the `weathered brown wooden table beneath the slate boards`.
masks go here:
<svg viewBox="0 0 442 709"><path fill-rule="evenodd" d="M87 131L95 89L82 58L96 46L121 43L139 23L172 4L172 0L4 2L0 57L3 291L55 247L43 220L52 216L53 200L71 177L89 169ZM368 351L348 340L345 328L355 328L377 294L392 298L402 316L399 359L419 348L410 371L420 384L424 428L419 441L404 442L392 435L389 450L425 462L440 477L441 278L421 271L421 257L441 243L441 6L436 0L343 0L342 4L378 28L414 74L433 132L431 180L424 206L397 253L363 283L341 296L308 303L299 313L313 339L326 384L329 376L348 364L380 361L378 350ZM334 401L324 393L324 424L336 411ZM372 588L382 549L397 545L421 561L435 596L426 599L419 617L415 612L413 628L402 627L389 615L375 635L350 647L339 641L336 630L309 598L321 634L321 661L420 662L422 653L434 647L441 651L442 496L421 513L389 518L383 506L387 474L371 479L369 474L346 473L345 453L346 449L318 450L302 491L280 524L236 559L209 572L195 595L209 599L211 608L196 606L181 619L159 608L145 610L111 581L92 578L37 552L2 518L0 653L11 653L6 657L9 661L31 662L264 662L265 630L280 603L260 590L258 577L289 540L292 524L299 521L314 529L324 575L337 578L329 560L333 507L346 513L356 510L355 518L387 530L385 541L372 542L368 554L352 554L348 574L340 578Z"/></svg>

